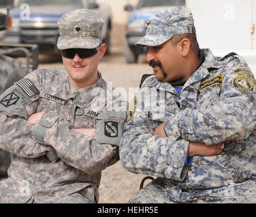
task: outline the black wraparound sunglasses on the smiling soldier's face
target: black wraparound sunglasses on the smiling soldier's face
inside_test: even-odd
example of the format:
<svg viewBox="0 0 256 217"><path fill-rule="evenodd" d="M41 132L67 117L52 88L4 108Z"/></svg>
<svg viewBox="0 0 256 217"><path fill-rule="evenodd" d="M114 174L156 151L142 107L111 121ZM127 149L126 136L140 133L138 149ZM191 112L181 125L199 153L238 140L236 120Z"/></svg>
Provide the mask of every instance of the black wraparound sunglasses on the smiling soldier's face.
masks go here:
<svg viewBox="0 0 256 217"><path fill-rule="evenodd" d="M65 58L73 59L76 56L76 54L78 54L80 58L89 58L97 54L97 52L98 50L96 48L93 48L93 49L71 48L71 49L61 50L61 56L64 56Z"/></svg>

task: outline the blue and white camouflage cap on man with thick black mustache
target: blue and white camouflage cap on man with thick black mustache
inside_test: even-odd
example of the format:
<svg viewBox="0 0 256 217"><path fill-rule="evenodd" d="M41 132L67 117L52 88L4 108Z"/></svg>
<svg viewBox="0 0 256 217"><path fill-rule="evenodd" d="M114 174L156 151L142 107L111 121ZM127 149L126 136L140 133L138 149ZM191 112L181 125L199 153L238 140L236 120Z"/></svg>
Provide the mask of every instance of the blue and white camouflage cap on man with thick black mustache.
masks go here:
<svg viewBox="0 0 256 217"><path fill-rule="evenodd" d="M191 10L187 7L170 7L148 20L146 35L137 43L138 47L157 46L174 35L195 33Z"/></svg>

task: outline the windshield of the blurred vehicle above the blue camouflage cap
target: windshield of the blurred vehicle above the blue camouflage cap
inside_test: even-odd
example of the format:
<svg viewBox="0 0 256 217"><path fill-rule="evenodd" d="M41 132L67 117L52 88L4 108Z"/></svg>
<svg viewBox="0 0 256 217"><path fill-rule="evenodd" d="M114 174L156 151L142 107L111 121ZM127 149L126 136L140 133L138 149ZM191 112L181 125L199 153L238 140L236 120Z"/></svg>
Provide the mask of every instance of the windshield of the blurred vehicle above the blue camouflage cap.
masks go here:
<svg viewBox="0 0 256 217"><path fill-rule="evenodd" d="M183 6L186 4L186 0L140 0L136 5L135 9L141 7L155 7L155 6Z"/></svg>

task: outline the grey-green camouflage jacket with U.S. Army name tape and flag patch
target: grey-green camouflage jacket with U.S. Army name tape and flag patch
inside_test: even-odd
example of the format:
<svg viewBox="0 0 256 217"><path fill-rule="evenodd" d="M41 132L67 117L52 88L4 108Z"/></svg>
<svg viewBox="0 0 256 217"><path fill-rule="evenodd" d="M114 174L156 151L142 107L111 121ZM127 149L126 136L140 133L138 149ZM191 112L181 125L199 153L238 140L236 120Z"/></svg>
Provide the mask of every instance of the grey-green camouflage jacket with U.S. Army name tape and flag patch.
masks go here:
<svg viewBox="0 0 256 217"><path fill-rule="evenodd" d="M52 203L86 188L89 201L98 201L101 170L119 159L125 113L113 108L126 103L121 96L106 100L112 87L98 75L94 85L69 94L64 68L39 69L1 95L0 147L13 154L9 178L0 182L2 203ZM48 113L37 125L27 122L40 111ZM96 128L95 136L74 128Z"/></svg>

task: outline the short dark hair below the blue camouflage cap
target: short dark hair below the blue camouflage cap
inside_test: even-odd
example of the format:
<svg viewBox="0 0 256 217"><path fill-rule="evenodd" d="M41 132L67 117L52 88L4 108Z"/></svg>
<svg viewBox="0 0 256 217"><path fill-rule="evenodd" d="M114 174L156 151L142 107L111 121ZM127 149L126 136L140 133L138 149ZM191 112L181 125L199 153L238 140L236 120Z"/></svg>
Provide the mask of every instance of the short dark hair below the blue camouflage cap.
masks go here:
<svg viewBox="0 0 256 217"><path fill-rule="evenodd" d="M172 44L176 45L178 42L180 42L182 39L189 39L190 41L190 48L195 54L199 55L199 44L197 42L197 36L195 33L186 33L186 34L178 34L174 35L171 39Z"/></svg>

